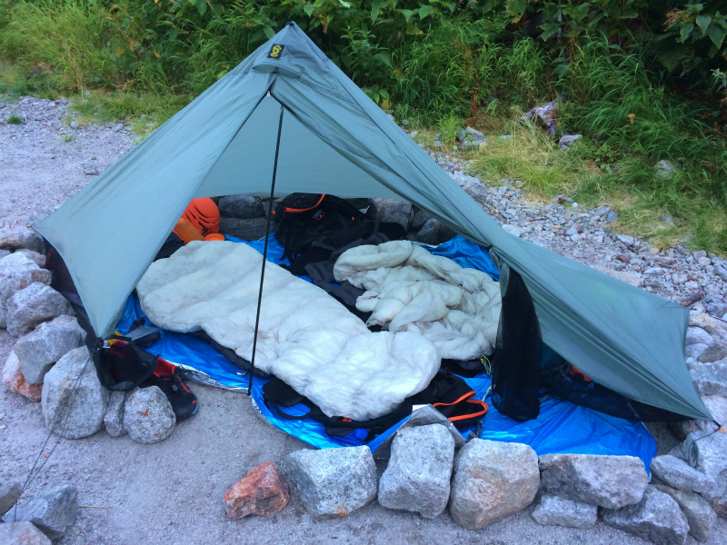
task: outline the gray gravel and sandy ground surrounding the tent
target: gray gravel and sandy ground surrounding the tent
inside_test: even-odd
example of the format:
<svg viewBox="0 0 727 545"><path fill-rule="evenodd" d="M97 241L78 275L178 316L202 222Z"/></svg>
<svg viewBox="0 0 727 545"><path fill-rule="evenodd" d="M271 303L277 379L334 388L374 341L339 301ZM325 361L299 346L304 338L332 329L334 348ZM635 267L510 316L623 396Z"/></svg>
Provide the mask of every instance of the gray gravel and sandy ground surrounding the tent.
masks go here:
<svg viewBox="0 0 727 545"><path fill-rule="evenodd" d="M24 117L25 124L5 124L10 114ZM0 226L29 223L38 214L55 209L132 147L132 135L119 125L71 129L61 122L67 115L62 101L25 98L7 104L0 100ZM67 134L74 135L69 143L63 140ZM459 183L472 182L459 172L460 164L443 156L437 159ZM604 232L606 225L593 220L593 213L580 217L571 212L566 217L571 208L528 206L512 183L494 189L487 200L487 207L499 211L494 215L500 221L508 219L522 229L525 238L557 252L611 273L625 272L632 282L652 282L647 289L674 300L702 292L711 296L709 301L703 297L695 304L706 308L723 303L727 288L720 276L722 262L714 257L695 257L678 249L656 255L639 241L624 242ZM575 232L568 234L568 229ZM702 258L709 258L709 263L700 261ZM668 262L670 259L673 261ZM647 272L654 266L662 272ZM687 281L675 282L677 272L685 273ZM686 282L696 282L697 287L686 286ZM720 308L712 306L711 310ZM14 342L0 330L0 362ZM201 384L192 384L192 388L199 399L199 413L178 424L167 441L142 445L128 437L99 432L79 441L61 440L52 456L40 456L45 466L25 499L45 487L72 482L79 489L81 505L107 506L81 509L75 526L59 544L644 543L601 523L592 530L541 526L532 520L530 510L481 531L463 530L446 512L424 520L386 510L375 502L344 519L315 520L304 511L294 491L291 504L272 518L227 520L222 498L234 481L259 463L281 461L304 444L258 420L244 395ZM660 448L665 450L673 438L662 427L658 431ZM44 446L46 438L40 403L0 388L0 464L5 470L25 476L39 453L53 449L57 438ZM696 543L691 538L688 542ZM727 521L720 520L708 543L727 543Z"/></svg>

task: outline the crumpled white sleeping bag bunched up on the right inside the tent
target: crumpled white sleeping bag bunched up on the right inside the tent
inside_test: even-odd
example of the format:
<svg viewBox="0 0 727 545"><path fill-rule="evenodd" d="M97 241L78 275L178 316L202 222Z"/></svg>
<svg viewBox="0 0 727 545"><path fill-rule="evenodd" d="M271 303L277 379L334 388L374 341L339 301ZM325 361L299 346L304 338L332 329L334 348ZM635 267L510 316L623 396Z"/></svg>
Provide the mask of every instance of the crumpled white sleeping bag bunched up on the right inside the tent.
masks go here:
<svg viewBox="0 0 727 545"><path fill-rule="evenodd" d="M442 358L472 360L493 353L500 282L482 271L464 269L409 241L392 241L345 251L334 276L366 290L356 308L373 312L368 325L421 333Z"/></svg>

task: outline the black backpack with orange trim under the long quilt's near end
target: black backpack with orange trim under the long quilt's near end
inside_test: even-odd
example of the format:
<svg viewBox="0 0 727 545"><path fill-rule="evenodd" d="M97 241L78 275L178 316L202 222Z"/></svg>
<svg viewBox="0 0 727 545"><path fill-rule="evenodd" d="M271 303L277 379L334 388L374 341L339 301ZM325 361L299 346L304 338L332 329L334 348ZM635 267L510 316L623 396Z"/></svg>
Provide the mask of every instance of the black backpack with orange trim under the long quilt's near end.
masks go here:
<svg viewBox="0 0 727 545"><path fill-rule="evenodd" d="M357 428L369 432L368 438L388 430L399 421L403 421L412 414L414 405L431 403L449 421L452 421L458 430L483 419L487 413L487 403L474 400L474 391L460 377L451 372L442 370L437 372L429 385L423 391L406 398L401 405L390 414L369 421L354 421L342 416L326 416L313 401L294 391L284 381L274 377L263 385L263 401L265 406L274 414L286 420L305 420L308 418L318 421L325 426L325 432L335 437L345 437ZM294 416L282 410L282 407L293 407L302 403L310 411L301 416Z"/></svg>

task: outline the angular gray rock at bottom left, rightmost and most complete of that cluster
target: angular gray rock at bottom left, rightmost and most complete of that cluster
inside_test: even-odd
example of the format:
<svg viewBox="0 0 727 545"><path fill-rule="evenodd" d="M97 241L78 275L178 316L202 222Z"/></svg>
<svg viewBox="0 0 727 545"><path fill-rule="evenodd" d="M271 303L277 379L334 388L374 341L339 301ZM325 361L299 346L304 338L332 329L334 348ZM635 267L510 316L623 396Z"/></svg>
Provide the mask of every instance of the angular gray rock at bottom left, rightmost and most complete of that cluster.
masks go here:
<svg viewBox="0 0 727 545"><path fill-rule="evenodd" d="M33 500L18 505L15 520L27 520L35 524L51 540L62 538L78 515L78 491L75 486L48 490Z"/></svg>

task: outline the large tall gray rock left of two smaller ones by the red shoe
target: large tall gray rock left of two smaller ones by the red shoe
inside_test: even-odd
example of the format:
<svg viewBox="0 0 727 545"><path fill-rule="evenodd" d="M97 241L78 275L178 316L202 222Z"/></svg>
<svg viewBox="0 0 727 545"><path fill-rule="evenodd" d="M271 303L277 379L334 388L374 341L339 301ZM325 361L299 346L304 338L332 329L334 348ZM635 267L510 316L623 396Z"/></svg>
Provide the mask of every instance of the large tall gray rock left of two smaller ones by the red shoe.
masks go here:
<svg viewBox="0 0 727 545"><path fill-rule="evenodd" d="M93 435L104 426L108 398L88 349L76 348L45 374L41 395L45 425L65 439Z"/></svg>

